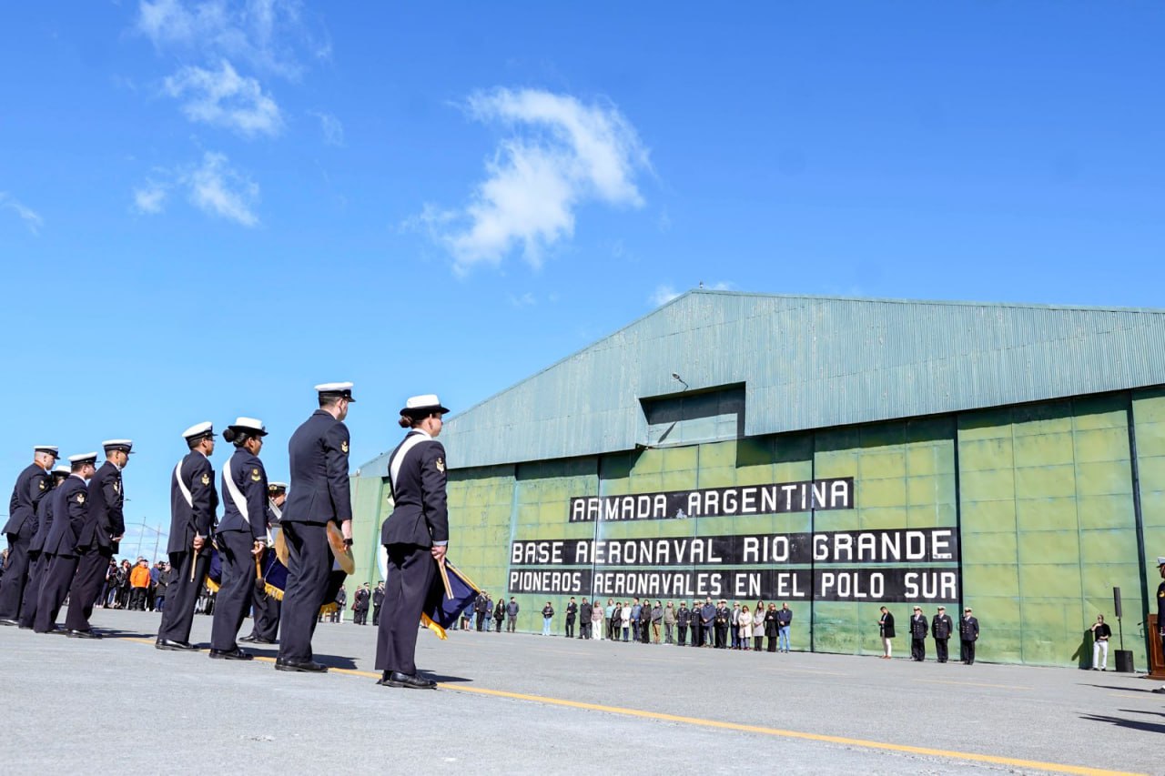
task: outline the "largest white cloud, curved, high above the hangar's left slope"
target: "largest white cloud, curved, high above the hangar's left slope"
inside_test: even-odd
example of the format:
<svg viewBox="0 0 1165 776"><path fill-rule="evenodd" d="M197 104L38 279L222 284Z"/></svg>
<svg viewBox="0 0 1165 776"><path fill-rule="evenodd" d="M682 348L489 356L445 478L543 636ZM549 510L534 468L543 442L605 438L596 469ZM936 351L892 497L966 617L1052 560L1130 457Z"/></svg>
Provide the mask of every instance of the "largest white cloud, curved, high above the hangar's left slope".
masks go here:
<svg viewBox="0 0 1165 776"><path fill-rule="evenodd" d="M635 174L650 169L631 125L608 104L584 105L539 90L496 89L466 101L468 114L509 135L460 211L425 207L421 220L453 255L454 270L497 264L515 247L532 267L574 233L584 202L640 207Z"/></svg>

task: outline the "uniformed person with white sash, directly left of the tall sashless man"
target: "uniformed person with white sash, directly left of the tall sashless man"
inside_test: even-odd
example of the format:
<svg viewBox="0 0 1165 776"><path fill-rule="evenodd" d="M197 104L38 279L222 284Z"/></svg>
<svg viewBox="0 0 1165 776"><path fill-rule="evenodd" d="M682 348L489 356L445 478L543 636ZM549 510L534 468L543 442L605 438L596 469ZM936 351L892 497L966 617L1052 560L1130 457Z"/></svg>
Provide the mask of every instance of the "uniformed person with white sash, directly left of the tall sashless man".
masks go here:
<svg viewBox="0 0 1165 776"><path fill-rule="evenodd" d="M267 549L267 470L259 460L267 429L262 421L240 417L223 432L234 454L223 466L223 520L214 534L223 560L223 581L214 598L211 657L249 661L235 637L250 608L255 562Z"/></svg>

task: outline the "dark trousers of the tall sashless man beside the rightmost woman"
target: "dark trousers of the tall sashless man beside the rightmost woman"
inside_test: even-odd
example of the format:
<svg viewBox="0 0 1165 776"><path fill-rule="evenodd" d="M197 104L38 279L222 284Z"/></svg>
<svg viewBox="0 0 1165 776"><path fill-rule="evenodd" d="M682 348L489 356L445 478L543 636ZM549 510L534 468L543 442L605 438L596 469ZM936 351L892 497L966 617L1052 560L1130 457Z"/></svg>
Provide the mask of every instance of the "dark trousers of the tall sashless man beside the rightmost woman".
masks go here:
<svg viewBox="0 0 1165 776"><path fill-rule="evenodd" d="M310 661L311 637L319 620L319 607L327 594L332 551L327 529L320 523L280 523L288 545L288 588L283 594L283 622L280 658Z"/></svg>

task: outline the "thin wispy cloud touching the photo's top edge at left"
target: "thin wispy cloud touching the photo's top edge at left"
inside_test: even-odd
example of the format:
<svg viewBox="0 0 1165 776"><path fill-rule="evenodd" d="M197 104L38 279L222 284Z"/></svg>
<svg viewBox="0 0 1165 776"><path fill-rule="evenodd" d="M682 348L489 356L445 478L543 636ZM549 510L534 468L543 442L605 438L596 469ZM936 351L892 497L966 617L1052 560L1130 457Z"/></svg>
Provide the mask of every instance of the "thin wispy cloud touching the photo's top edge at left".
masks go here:
<svg viewBox="0 0 1165 776"><path fill-rule="evenodd" d="M326 58L331 44L316 40L298 0L142 0L136 29L156 49L228 57L255 70L297 79L301 54Z"/></svg>

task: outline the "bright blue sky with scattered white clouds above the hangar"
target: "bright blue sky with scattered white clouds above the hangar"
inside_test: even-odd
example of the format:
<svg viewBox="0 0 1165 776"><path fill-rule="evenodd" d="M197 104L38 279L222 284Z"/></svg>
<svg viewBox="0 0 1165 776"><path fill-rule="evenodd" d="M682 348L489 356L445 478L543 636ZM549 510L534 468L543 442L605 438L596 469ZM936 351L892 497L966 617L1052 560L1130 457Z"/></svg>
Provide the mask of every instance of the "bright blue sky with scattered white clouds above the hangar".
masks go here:
<svg viewBox="0 0 1165 776"><path fill-rule="evenodd" d="M700 282L1165 306L1159 3L402 5L6 9L0 472L164 527L192 423L359 465Z"/></svg>

